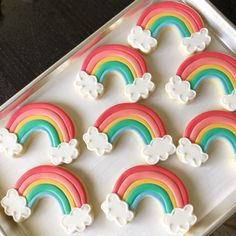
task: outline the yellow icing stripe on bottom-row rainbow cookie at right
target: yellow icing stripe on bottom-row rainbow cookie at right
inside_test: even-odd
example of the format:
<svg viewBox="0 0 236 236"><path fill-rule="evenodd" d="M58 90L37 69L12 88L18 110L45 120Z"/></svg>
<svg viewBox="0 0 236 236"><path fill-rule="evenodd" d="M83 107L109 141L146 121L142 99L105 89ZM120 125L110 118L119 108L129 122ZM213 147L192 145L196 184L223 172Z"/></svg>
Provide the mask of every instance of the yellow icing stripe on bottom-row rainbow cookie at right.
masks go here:
<svg viewBox="0 0 236 236"><path fill-rule="evenodd" d="M130 193L135 187L137 187L137 186L139 186L139 185L142 185L142 184L156 184L156 185L162 187L162 188L165 189L165 191L168 193L168 195L169 195L169 197L170 197L170 199L171 199L171 202L172 202L172 204L173 204L173 207L174 207L174 208L177 207L177 203L176 203L176 200L175 200L175 196L174 196L174 194L172 193L172 191L170 190L170 188L169 188L166 184L164 184L164 183L162 183L162 182L160 182L160 181L158 181L158 180L154 180L154 179L140 179L140 180L137 180L137 181L133 182L133 183L126 189L126 191L125 191L125 193L124 193L122 199L123 199L123 200L126 200L127 197L129 196L129 193Z"/></svg>

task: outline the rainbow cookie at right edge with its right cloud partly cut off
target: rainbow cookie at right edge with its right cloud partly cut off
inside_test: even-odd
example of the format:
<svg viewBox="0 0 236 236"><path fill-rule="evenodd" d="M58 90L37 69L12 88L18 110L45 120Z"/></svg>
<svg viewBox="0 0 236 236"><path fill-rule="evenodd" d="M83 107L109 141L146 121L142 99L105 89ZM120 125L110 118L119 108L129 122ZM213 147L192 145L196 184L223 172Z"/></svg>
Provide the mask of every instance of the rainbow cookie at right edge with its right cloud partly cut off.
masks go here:
<svg viewBox="0 0 236 236"><path fill-rule="evenodd" d="M209 78L222 84L222 106L236 110L236 60L220 52L202 52L187 58L165 88L171 98L187 103L195 97L201 82Z"/></svg>

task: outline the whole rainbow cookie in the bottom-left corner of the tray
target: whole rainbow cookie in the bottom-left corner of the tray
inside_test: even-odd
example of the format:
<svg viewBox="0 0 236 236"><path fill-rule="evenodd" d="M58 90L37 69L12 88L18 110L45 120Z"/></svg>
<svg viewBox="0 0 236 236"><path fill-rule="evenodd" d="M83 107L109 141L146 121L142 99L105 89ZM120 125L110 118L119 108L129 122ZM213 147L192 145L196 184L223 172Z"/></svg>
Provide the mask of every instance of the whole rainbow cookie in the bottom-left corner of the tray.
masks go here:
<svg viewBox="0 0 236 236"><path fill-rule="evenodd" d="M30 217L33 206L52 196L62 209L61 225L67 233L84 231L92 224L91 206L84 186L72 173L55 166L38 166L23 174L7 191L1 205L8 216L21 222Z"/></svg>

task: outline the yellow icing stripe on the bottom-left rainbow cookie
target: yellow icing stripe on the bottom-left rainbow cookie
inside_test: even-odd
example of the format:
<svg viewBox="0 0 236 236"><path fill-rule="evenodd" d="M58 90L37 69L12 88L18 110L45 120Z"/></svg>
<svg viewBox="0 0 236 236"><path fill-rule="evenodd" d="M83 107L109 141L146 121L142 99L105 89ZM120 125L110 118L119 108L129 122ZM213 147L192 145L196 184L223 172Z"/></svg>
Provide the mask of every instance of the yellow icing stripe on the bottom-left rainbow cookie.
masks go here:
<svg viewBox="0 0 236 236"><path fill-rule="evenodd" d="M40 184L52 184L52 185L58 187L66 195L66 198L68 199L71 208L76 207L74 199L73 199L71 193L67 190L67 188L64 185L62 185L61 183L59 183L55 180L52 180L52 179L39 179L39 180L34 181L25 189L25 191L23 192L23 196L26 196L31 191L32 188L34 188Z"/></svg>

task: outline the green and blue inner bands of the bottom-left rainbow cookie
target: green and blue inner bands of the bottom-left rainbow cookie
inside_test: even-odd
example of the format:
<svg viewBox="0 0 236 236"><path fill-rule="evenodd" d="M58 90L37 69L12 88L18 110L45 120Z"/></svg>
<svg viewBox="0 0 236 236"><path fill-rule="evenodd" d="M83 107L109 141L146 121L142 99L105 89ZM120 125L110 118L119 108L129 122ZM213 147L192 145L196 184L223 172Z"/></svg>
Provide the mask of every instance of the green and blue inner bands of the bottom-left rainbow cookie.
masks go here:
<svg viewBox="0 0 236 236"><path fill-rule="evenodd" d="M63 214L70 214L71 206L66 195L62 190L52 184L39 184L33 187L26 195L27 206L32 208L37 199L45 195L55 197L60 203Z"/></svg>

